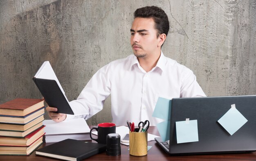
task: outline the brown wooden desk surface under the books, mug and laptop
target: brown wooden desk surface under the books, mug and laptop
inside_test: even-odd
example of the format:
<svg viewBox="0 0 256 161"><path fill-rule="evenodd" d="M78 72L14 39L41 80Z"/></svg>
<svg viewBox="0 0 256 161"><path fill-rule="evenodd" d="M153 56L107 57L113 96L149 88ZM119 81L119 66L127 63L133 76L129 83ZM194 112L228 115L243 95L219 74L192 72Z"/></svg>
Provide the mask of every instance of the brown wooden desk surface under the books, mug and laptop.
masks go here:
<svg viewBox="0 0 256 161"><path fill-rule="evenodd" d="M93 126L90 126L90 128ZM150 126L148 129L148 133L158 135L157 128L155 126ZM94 141L93 141L94 142ZM50 143L44 143L39 148L42 148ZM162 150L158 146L155 141L149 141L148 146L152 146L152 148L148 151L148 155L144 157L135 157L129 155L128 148L129 146L125 146L121 144L121 155L117 157L110 157L106 155L106 152L101 154L94 155L88 159L90 161L227 161L227 160L247 160L247 161L255 161L256 160L256 152L246 153L246 154L212 154L212 155L190 155L190 156L170 156L166 152ZM52 159L48 157L41 157L36 155L36 152L33 152L30 156L8 156L8 155L0 155L0 161L56 161L57 159Z"/></svg>

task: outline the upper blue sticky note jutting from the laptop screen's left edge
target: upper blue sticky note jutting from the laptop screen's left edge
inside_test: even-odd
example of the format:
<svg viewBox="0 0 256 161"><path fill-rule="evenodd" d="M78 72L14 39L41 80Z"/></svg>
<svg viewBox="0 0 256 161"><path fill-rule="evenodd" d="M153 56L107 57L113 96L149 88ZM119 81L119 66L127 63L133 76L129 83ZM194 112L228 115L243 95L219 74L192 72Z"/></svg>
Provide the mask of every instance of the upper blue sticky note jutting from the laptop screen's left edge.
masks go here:
<svg viewBox="0 0 256 161"><path fill-rule="evenodd" d="M152 116L164 120L170 120L171 100L159 97Z"/></svg>

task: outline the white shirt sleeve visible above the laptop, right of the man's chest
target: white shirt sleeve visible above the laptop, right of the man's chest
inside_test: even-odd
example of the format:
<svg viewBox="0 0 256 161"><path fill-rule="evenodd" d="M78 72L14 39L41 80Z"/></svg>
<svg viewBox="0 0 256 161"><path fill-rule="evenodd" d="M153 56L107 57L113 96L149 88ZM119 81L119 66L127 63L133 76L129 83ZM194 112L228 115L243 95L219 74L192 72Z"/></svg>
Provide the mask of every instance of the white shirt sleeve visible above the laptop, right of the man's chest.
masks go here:
<svg viewBox="0 0 256 161"><path fill-rule="evenodd" d="M187 68L183 74L180 97L206 97L193 72Z"/></svg>

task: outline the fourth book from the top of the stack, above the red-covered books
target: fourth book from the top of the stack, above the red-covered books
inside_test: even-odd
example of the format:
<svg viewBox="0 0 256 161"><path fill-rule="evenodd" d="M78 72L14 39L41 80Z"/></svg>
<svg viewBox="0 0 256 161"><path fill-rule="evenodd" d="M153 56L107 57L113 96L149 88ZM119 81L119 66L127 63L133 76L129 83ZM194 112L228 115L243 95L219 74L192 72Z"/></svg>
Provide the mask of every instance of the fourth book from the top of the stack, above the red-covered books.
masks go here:
<svg viewBox="0 0 256 161"><path fill-rule="evenodd" d="M0 131L0 136L7 136L7 137L25 137L32 133L33 131L37 130L42 126L41 123L32 126L31 128L27 129L26 131Z"/></svg>

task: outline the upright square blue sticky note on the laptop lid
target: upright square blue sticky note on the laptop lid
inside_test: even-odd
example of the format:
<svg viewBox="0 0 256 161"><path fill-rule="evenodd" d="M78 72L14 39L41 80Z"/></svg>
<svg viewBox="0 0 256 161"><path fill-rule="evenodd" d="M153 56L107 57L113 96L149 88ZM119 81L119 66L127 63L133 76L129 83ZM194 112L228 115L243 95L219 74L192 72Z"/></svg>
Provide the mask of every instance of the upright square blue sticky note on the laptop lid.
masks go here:
<svg viewBox="0 0 256 161"><path fill-rule="evenodd" d="M176 122L177 144L198 141L198 120Z"/></svg>

